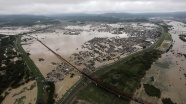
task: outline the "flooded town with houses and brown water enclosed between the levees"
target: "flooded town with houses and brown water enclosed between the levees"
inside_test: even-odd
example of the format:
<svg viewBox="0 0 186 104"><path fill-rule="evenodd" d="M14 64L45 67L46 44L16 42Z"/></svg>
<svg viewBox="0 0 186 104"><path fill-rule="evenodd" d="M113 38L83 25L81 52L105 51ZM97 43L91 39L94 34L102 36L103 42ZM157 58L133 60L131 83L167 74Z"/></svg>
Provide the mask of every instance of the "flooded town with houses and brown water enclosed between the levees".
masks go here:
<svg viewBox="0 0 186 104"><path fill-rule="evenodd" d="M102 65L149 47L160 37L161 29L151 23L87 24L81 27L67 26L60 32L53 28L30 35L47 44L83 72L90 74ZM60 90L56 92L59 97L67 91L61 89L62 86L70 88L73 84L69 81L80 79L81 74L58 60L36 39L25 36L22 40L26 40L22 42L23 48L30 54L46 80L59 85L56 86L56 91ZM47 52L47 55L43 52ZM72 78L66 77L68 75ZM63 83L66 80L68 83Z"/></svg>

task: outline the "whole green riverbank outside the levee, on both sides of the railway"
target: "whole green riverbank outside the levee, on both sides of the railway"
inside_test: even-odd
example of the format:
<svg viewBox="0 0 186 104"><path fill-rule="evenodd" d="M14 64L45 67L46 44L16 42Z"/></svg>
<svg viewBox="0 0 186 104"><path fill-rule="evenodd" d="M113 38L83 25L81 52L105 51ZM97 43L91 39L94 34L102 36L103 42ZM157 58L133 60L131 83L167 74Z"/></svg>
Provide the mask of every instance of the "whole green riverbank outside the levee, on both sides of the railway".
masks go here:
<svg viewBox="0 0 186 104"><path fill-rule="evenodd" d="M133 57L126 62L120 61L114 65L105 67L109 71L97 79L103 82L105 86L112 86L113 90L118 90L132 97L134 91L140 87L141 79L146 71L151 67L151 64L161 56L161 53L159 50L151 50L137 57ZM102 104L107 104L107 101L112 99L113 95L109 95L108 92L106 92L107 91L99 87L89 85L85 91L79 94L78 98L88 100L91 103L99 103L99 101L102 101ZM118 100L118 98L116 99ZM126 99L119 101L122 103L127 102Z"/></svg>

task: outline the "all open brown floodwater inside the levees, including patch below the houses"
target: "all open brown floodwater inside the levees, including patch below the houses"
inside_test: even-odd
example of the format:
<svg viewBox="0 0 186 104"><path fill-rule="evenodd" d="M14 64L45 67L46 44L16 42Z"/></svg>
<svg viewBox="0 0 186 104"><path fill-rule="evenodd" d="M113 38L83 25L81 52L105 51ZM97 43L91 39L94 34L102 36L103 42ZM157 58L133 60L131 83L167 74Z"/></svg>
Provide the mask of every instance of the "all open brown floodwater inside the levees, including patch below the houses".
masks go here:
<svg viewBox="0 0 186 104"><path fill-rule="evenodd" d="M81 45L85 42L93 39L94 37L128 37L127 34L111 34L108 32L98 32L98 31L87 31L90 28L90 25L78 27L78 26L68 26L68 29L82 29L79 35L65 35L63 34L63 30L60 32L47 32L47 33L36 33L32 36L38 38L43 43L45 43L49 48L53 51L61 55L66 60L70 60L70 56L73 53L78 53L82 50ZM29 38L24 36L23 38ZM56 66L52 65L52 62L55 63L63 63L59 60L51 51L49 51L46 47L44 47L41 43L39 43L36 39L29 40L27 45L22 45L24 50L30 53L30 58L34 61L35 65L39 68L44 77L47 76L49 72L51 72ZM39 61L39 58L43 58L44 61ZM72 62L71 62L72 63ZM73 63L72 63L73 64ZM64 80L57 81L55 83L55 94L58 95L56 101L58 101L68 90L71 88L80 78L81 75L77 72L75 73L74 78L70 78L70 74L66 75Z"/></svg>

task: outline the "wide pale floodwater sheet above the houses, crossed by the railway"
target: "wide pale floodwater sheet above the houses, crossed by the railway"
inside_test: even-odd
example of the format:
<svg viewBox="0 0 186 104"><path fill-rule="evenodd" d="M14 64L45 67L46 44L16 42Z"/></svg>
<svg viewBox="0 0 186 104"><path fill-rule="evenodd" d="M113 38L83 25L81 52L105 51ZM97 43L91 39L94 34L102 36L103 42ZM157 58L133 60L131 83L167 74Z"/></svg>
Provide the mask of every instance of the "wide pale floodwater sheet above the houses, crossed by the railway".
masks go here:
<svg viewBox="0 0 186 104"><path fill-rule="evenodd" d="M83 31L80 35L64 35L63 32L61 32L61 33L37 33L32 36L41 40L53 51L61 55L66 60L70 60L70 57L73 53L78 53L79 51L88 50L86 48L82 49L81 45L83 45L85 42L95 37L116 37L116 36L121 38L128 37L127 34L125 33L116 35L108 32L87 32L87 31ZM23 48L31 54L30 55L31 59L35 62L36 66L40 69L44 77L46 77L47 73L51 72L54 69L55 66L51 65L52 62L61 63L61 61L52 52L50 52L46 47L44 47L41 43L39 43L35 39L28 41L27 43L31 43L31 44L23 45ZM40 62L38 58L44 58L45 60Z"/></svg>

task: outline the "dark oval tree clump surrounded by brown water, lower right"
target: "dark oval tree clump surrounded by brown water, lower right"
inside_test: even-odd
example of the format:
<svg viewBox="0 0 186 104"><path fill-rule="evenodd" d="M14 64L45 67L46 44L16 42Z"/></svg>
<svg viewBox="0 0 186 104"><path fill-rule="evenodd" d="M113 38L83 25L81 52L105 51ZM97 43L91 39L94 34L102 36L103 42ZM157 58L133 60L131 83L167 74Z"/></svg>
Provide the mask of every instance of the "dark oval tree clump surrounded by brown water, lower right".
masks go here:
<svg viewBox="0 0 186 104"><path fill-rule="evenodd" d="M149 85L149 84L143 84L143 86L144 86L144 89L147 95L160 98L161 91L158 88L154 87L153 85Z"/></svg>

